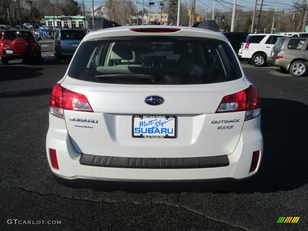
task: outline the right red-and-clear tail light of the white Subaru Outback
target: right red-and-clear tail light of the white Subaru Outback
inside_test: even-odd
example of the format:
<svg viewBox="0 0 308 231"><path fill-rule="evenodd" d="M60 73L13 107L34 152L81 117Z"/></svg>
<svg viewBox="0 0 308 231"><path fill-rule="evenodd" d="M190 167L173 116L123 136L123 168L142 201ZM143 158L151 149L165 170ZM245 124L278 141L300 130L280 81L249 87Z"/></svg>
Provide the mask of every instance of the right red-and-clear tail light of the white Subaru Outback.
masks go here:
<svg viewBox="0 0 308 231"><path fill-rule="evenodd" d="M261 103L258 90L250 85L247 89L226 95L216 110L216 113L246 111L245 121L261 114Z"/></svg>

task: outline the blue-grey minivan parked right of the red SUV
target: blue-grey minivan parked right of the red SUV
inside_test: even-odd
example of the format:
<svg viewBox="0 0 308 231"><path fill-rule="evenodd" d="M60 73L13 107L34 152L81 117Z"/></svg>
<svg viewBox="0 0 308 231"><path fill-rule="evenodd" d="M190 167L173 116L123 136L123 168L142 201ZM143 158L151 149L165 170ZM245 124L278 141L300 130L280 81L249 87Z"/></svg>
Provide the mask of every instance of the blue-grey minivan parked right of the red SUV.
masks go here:
<svg viewBox="0 0 308 231"><path fill-rule="evenodd" d="M60 29L55 32L53 48L57 59L74 55L79 43L86 35L84 30Z"/></svg>

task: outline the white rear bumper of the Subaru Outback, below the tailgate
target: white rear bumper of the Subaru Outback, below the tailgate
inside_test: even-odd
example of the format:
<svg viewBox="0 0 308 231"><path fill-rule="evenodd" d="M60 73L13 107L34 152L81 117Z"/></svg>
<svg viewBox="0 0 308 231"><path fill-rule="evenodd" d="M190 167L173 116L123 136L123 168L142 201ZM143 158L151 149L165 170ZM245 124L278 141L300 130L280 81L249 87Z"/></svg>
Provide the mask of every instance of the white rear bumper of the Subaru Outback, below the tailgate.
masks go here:
<svg viewBox="0 0 308 231"><path fill-rule="evenodd" d="M260 131L261 117L259 116L244 123L235 150L227 155L229 164L226 166L204 168L126 168L125 166L106 167L100 164L98 166L93 166L93 164L84 165L80 163L82 153L77 152L72 145L66 130L65 121L53 115L51 115L51 120L60 122L53 126L54 129L49 128L47 133L46 151L48 162L58 181L69 186L75 184L78 187L89 187L96 183L99 185L109 185L112 181L116 182L117 186L115 187L132 182L164 185L175 182L176 185L182 186L183 182L199 185L200 182L208 184L208 182L218 181L223 182L222 184L224 185L227 184L226 181L241 182L255 175L260 167L263 154L263 138ZM54 169L51 165L49 148L56 150L59 170ZM257 168L253 172L249 172L253 152L258 150L260 150L260 158ZM180 151L181 149L179 149ZM102 150L103 153L109 154L111 152L110 150ZM217 153L217 156L219 155L221 154ZM191 157L194 157L193 153ZM87 181L93 183L85 183Z"/></svg>

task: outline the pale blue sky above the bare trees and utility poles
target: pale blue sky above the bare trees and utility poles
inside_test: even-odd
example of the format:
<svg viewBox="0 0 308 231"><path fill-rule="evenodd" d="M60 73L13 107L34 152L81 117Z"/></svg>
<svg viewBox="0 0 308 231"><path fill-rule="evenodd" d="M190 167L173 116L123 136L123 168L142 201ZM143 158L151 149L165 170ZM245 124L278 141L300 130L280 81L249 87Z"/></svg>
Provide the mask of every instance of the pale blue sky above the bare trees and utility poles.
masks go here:
<svg viewBox="0 0 308 231"><path fill-rule="evenodd" d="M75 0L76 2L81 2L82 0ZM92 0L83 0L84 4L87 8L90 8L92 5ZM119 0L121 1L121 0ZM123 1L123 0L122 0ZM121 2L122 2L121 1ZM149 0L144 0L144 5L147 8ZM94 6L103 5L105 0L94 0ZM134 2L134 0L131 0L131 2ZM138 10L142 9L142 3L143 0L138 0ZM159 11L158 4L159 0L152 0L151 2L155 2L155 7L151 7L151 10ZM187 6L190 6L191 0L181 0L181 3L187 4ZM208 8L208 11L213 11L213 2L214 0L196 0L196 10L200 7L206 10ZM230 11L233 9L233 2L234 0L215 0L215 10L219 11ZM290 12L290 10L293 10L293 2L294 0L263 0L263 9L267 10L269 8L283 8L285 9L285 13ZM237 6L240 6L243 10L253 10L255 5L255 0L237 0ZM257 0L257 10L260 10L261 0Z"/></svg>

